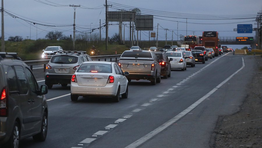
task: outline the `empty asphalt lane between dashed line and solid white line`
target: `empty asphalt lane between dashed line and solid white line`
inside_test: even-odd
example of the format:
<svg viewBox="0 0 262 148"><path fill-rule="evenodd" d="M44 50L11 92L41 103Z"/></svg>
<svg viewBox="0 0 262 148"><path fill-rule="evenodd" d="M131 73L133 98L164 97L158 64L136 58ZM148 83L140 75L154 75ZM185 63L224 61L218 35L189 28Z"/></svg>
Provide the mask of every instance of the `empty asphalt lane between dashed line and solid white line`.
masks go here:
<svg viewBox="0 0 262 148"><path fill-rule="evenodd" d="M228 62L227 60L224 61L224 59L221 61L225 65ZM218 67L221 71L223 71L224 65L215 64L213 65L213 69L210 68L201 71L201 73L193 76L190 80L178 85L173 92L170 91L161 97L156 97L158 100L150 103L148 107L141 107L141 111L133 113L133 116L126 122L123 122L117 129L111 131L88 147L126 147L128 144L131 144L137 139L153 131L155 128L161 126L164 122L173 118L178 113L182 112L191 104L199 100L199 98L206 95L206 93L223 82L226 77L229 77L232 73L234 73L237 68L241 67L241 64L238 62L236 62L235 68L231 67L231 70L225 71L225 75L221 76L220 73L216 73L215 77L218 77L218 80L214 82L216 83L215 85L208 82L204 85L199 85L199 79L203 80L203 77L199 77L199 75L209 75L213 73L214 68ZM205 120L202 120L202 122L205 122ZM190 139L188 140L190 141ZM157 141L159 142L161 140ZM163 143L161 144L164 145Z"/></svg>

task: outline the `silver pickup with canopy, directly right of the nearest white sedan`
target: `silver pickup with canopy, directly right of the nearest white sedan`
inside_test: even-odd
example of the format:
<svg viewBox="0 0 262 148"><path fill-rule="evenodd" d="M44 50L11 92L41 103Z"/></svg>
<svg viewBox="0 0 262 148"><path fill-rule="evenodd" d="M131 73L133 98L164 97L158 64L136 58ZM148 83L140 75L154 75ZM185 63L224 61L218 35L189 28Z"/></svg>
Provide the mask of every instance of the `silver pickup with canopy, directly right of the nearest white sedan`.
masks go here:
<svg viewBox="0 0 262 148"><path fill-rule="evenodd" d="M153 51L126 50L121 55L118 65L123 72L129 72L129 75L126 75L129 82L144 79L155 85L161 81L161 65L159 62L163 62L163 60L157 61Z"/></svg>

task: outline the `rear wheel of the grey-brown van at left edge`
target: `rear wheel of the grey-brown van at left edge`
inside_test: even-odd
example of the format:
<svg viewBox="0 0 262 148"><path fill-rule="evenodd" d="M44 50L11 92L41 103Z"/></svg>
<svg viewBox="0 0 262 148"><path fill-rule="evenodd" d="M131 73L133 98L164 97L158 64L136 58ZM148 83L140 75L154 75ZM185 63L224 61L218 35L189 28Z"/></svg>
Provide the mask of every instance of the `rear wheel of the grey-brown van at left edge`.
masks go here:
<svg viewBox="0 0 262 148"><path fill-rule="evenodd" d="M12 135L10 136L10 139L6 142L7 147L11 148L19 148L19 141L20 141L20 127L17 121L15 121Z"/></svg>

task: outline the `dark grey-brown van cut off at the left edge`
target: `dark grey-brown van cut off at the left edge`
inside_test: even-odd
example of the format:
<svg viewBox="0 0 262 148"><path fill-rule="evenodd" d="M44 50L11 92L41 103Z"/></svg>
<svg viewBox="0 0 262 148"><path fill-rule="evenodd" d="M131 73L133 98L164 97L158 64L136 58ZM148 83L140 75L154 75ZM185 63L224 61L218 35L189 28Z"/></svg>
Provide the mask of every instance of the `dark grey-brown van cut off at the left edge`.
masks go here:
<svg viewBox="0 0 262 148"><path fill-rule="evenodd" d="M47 136L47 86L36 79L16 53L0 53L0 145L18 148L20 140Z"/></svg>

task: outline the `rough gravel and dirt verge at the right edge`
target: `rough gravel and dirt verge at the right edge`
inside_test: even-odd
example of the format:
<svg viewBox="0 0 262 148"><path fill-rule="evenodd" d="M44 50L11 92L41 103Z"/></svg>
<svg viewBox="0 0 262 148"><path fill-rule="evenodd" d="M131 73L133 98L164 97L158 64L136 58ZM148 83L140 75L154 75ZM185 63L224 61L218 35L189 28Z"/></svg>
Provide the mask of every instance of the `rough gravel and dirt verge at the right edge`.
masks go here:
<svg viewBox="0 0 262 148"><path fill-rule="evenodd" d="M233 115L220 116L210 147L262 147L262 56L254 56L255 75L248 84L247 97Z"/></svg>

